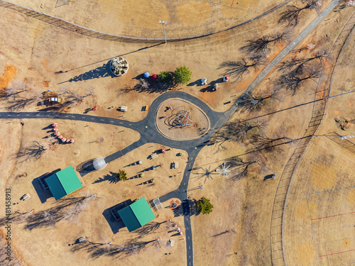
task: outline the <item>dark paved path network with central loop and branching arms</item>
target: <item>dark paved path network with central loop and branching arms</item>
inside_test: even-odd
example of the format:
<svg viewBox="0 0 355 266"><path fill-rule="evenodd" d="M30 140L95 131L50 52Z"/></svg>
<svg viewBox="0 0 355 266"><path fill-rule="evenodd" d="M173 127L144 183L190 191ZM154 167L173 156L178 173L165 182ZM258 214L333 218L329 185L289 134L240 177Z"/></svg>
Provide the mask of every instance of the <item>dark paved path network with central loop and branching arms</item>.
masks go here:
<svg viewBox="0 0 355 266"><path fill-rule="evenodd" d="M310 33L327 14L334 9L339 3L339 0L333 0L327 8L325 8L322 12L320 12L319 16L315 18L310 25L308 25L297 37L287 45L271 62L261 70L256 79L251 82L246 91L241 94L239 100L237 100L231 109L224 113L218 113L216 111L212 111L212 109L207 106L203 101L197 99L195 96L187 94L185 92L166 92L162 94L157 99L153 101L151 104L151 108L148 111L146 118L139 122L130 122L124 121L116 118L107 118L101 116L89 116L78 113L43 113L43 112L1 112L0 119L10 119L10 118L50 118L50 119L68 119L75 121L87 121L92 123L104 123L111 124L116 126L124 126L126 128L131 128L133 130L138 131L141 134L141 138L127 146L123 150L119 150L116 153L112 153L105 157L107 162L111 162L116 160L117 158L129 153L131 150L138 148L139 146L145 143L160 143L162 145L167 145L172 148L179 148L185 150L189 155L189 160L187 162L187 167L185 168L185 172L182 177L182 182L178 189L175 189L173 192L169 192L163 196L160 196L161 201L166 201L172 197L176 197L182 201L182 208L184 209L184 223L185 223L185 238L186 238L186 248L187 248L187 266L193 265L193 251L192 251L192 231L191 231L191 222L190 222L190 203L187 200L187 186L190 178L190 172L192 170L192 166L195 163L195 159L200 152L200 150L207 144L207 142L212 138L214 133L221 128L224 123L228 120L228 118L236 111L238 108L239 101L243 99L243 97L252 92L253 89L266 77L266 75L273 70L273 67L278 64L283 57L288 55L288 53L293 50L300 41L305 38L305 36ZM196 106L199 106L200 109L204 111L209 117L209 121L211 123L211 128L206 135L202 138L195 140L170 140L165 138L165 136L161 135L157 128L155 128L155 114L158 109L158 106L170 98L181 98L186 101L190 101Z"/></svg>

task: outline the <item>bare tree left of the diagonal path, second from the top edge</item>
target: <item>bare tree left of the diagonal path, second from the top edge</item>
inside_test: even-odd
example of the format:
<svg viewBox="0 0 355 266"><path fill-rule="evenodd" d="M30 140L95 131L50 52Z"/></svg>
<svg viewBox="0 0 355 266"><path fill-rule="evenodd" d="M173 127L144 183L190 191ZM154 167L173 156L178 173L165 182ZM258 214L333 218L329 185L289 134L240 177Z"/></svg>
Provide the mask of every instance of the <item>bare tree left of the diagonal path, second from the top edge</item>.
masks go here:
<svg viewBox="0 0 355 266"><path fill-rule="evenodd" d="M290 31L284 31L283 33L278 32L273 35L265 35L256 40L248 40L247 44L241 47L239 50L251 55L265 55L270 52L272 45L282 45L289 38Z"/></svg>

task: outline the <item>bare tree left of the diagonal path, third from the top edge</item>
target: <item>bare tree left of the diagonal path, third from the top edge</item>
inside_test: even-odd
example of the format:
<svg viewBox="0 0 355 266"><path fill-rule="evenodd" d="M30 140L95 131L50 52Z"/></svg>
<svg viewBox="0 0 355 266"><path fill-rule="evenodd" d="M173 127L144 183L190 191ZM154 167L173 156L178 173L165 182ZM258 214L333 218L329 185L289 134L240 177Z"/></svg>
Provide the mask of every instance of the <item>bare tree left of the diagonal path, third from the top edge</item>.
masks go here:
<svg viewBox="0 0 355 266"><path fill-rule="evenodd" d="M249 62L245 58L239 61L222 62L219 68L225 68L224 74L239 80L244 74L249 73L249 69L258 70L261 65L265 65L265 60L262 57L253 57Z"/></svg>

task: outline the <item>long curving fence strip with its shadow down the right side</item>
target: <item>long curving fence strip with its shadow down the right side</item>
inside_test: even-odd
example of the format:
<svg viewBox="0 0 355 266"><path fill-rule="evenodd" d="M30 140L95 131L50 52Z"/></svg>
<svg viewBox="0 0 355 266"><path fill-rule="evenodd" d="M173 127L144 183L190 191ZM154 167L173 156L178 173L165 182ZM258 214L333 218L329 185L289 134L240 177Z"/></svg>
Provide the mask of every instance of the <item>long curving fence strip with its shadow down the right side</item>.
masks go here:
<svg viewBox="0 0 355 266"><path fill-rule="evenodd" d="M349 21L345 24L342 32L339 33L337 40L335 40L330 52L333 55L333 60L327 62L327 65L323 65L322 74L317 82L317 89L315 91L315 100L322 99L330 94L330 87L332 82L332 77L334 73L334 68L337 65L339 57L342 56L342 52L346 47L351 34L354 31L355 25L355 13L349 18ZM349 32L351 26L353 30ZM328 66L329 65L329 66ZM326 89L324 89L324 87ZM284 230L285 230L285 212L287 208L288 194L292 187L293 178L297 170L302 157L305 155L305 150L310 145L312 135L314 135L320 125L325 115L327 109L327 101L316 101L313 104L312 118L310 123L308 123L308 128L302 139L297 143L297 147L288 160L283 173L281 174L280 180L278 182L278 187L275 192L275 198L273 202L273 211L271 214L271 227L270 227L270 244L271 244L271 263L272 265L282 265L286 266L286 256L285 256L285 241L284 241Z"/></svg>

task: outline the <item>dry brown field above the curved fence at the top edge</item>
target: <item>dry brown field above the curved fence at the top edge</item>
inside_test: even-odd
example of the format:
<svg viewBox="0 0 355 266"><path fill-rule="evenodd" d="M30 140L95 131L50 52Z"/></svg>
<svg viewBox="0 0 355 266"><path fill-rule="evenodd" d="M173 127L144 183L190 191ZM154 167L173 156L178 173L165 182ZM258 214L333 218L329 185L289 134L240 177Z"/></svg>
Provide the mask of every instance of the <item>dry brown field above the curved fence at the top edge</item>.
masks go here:
<svg viewBox="0 0 355 266"><path fill-rule="evenodd" d="M168 38L199 35L223 30L273 9L281 0L52 0L43 3L35 0L14 0L13 3L28 6L80 26L104 33L138 38L163 38L158 21L168 21L165 31Z"/></svg>

